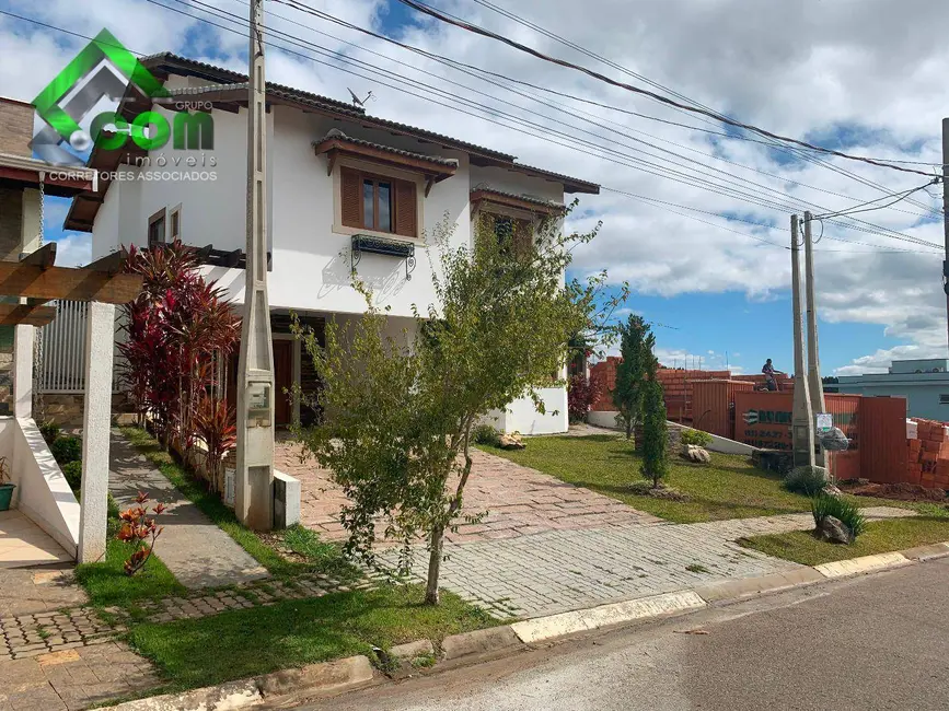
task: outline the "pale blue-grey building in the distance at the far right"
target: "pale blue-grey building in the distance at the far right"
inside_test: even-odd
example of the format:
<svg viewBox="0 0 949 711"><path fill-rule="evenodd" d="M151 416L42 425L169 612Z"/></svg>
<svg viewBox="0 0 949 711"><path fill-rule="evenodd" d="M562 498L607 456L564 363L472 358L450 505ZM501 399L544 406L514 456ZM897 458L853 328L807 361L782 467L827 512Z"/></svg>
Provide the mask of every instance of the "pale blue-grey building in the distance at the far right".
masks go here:
<svg viewBox="0 0 949 711"><path fill-rule="evenodd" d="M841 375L836 392L905 397L906 417L949 421L949 359L893 361L889 373Z"/></svg>

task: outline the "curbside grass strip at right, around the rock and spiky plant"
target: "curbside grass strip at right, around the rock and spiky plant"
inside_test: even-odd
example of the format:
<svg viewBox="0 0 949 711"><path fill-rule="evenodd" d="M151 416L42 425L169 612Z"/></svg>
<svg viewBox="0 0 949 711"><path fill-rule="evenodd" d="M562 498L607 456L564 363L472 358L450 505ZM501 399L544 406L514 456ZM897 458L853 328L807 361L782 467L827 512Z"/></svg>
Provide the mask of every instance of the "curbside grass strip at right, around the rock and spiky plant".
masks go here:
<svg viewBox="0 0 949 711"><path fill-rule="evenodd" d="M768 556L785 558L803 566L819 566L847 558L886 553L915 546L949 540L949 516L921 515L913 518L871 521L849 546L829 544L814 538L808 531L742 538L738 543Z"/></svg>

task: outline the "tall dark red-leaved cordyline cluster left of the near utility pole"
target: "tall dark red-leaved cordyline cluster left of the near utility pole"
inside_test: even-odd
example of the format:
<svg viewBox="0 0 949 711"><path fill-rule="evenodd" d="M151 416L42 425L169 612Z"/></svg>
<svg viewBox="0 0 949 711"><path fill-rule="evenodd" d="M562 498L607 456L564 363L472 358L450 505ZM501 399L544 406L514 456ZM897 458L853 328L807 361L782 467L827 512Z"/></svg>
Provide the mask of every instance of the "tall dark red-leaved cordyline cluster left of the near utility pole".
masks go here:
<svg viewBox="0 0 949 711"><path fill-rule="evenodd" d="M196 250L180 241L130 247L125 268L143 277L143 288L123 307L127 337L118 346L120 373L140 418L151 417L164 444L174 440L185 448L197 438L202 398L222 391L215 363L240 337L240 318L198 266ZM223 432L216 438L224 439Z"/></svg>

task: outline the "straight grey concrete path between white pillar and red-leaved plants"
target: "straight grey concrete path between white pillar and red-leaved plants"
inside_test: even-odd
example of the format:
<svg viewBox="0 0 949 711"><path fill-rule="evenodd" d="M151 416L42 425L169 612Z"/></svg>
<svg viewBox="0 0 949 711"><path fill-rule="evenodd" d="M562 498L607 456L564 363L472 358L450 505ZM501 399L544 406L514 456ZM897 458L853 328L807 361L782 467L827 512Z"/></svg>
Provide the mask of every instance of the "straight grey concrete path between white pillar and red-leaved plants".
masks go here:
<svg viewBox="0 0 949 711"><path fill-rule="evenodd" d="M234 539L155 470L117 431L112 433L108 490L119 508L134 503L139 491L167 506L158 522L164 526L155 553L186 587L219 587L267 576Z"/></svg>

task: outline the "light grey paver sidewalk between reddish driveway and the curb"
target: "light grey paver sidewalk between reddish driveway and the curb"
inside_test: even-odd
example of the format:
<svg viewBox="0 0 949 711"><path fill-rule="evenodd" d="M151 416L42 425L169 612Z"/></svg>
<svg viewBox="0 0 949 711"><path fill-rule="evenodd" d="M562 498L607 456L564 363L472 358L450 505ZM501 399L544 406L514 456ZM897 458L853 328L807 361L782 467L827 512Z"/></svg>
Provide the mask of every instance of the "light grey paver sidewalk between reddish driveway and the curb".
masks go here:
<svg viewBox="0 0 949 711"><path fill-rule="evenodd" d="M868 518L914 515L864 509ZM742 548L744 536L813 526L811 514L698 524L553 531L508 540L445 547L441 585L501 617L539 617L658 595L725 579L754 578L797 563ZM394 566L395 557L385 560ZM426 555L416 557L416 575Z"/></svg>

